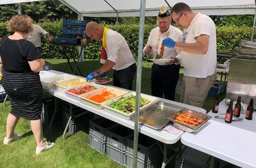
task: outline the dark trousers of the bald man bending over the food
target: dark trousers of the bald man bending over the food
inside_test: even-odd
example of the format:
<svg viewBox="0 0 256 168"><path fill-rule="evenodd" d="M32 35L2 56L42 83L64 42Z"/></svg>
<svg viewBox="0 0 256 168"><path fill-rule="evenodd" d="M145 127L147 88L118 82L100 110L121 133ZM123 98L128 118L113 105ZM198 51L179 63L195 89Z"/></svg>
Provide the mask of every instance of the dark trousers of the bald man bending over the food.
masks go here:
<svg viewBox="0 0 256 168"><path fill-rule="evenodd" d="M113 84L116 87L122 87L123 89L131 90L133 87L133 78L136 73L136 64L134 63L126 69L119 71L114 70Z"/></svg>

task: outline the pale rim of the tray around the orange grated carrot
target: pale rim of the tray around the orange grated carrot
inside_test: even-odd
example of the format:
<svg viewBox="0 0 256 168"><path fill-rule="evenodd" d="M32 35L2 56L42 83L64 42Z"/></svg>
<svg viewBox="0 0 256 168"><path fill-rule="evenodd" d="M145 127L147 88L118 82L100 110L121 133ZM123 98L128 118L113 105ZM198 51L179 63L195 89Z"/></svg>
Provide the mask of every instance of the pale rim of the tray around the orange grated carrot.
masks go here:
<svg viewBox="0 0 256 168"><path fill-rule="evenodd" d="M111 97L110 99L107 99L106 101L110 101L111 99L115 99L117 97L120 97L121 95L125 95L129 93L129 91L123 90L123 89L117 89L115 87L103 87L100 89L97 89L95 91L90 91L89 93L84 93L82 95L79 95L80 99L82 100L83 103L92 106L97 109L102 109L103 107L101 106L102 103L105 103L106 101L102 101L101 103L98 103L96 101L90 100L90 97L95 96L95 95L100 95L104 91L110 91L111 93L115 94L115 97Z"/></svg>

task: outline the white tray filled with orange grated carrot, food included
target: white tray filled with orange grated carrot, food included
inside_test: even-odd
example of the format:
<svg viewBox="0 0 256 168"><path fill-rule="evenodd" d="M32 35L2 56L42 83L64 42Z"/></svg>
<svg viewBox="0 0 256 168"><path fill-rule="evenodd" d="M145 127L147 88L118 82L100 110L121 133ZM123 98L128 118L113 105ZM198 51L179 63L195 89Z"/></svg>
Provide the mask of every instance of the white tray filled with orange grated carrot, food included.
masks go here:
<svg viewBox="0 0 256 168"><path fill-rule="evenodd" d="M108 93L108 94L104 94ZM100 89L97 89L95 91L90 91L89 93L84 93L82 95L79 95L80 99L82 100L82 103L85 103L89 106L92 106L97 109L102 109L101 106L102 103L105 103L106 101L110 101L111 99L115 99L117 97L120 97L121 95L125 95L129 93L129 91L123 90L123 89L117 89L115 87L102 87ZM103 101L95 101L92 99L92 97L100 99L104 99Z"/></svg>

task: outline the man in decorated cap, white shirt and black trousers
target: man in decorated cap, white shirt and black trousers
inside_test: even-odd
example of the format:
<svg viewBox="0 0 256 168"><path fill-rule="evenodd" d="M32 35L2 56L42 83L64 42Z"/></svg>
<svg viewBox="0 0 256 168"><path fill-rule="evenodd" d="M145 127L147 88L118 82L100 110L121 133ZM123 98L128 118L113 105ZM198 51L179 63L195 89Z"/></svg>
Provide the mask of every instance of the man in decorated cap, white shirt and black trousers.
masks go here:
<svg viewBox="0 0 256 168"><path fill-rule="evenodd" d="M164 38L172 38L178 42L183 39L181 30L171 26L172 21L170 11L167 7L162 6L158 14L158 27L154 28L150 32L148 42L143 49L144 54L153 54L153 58L156 59L160 55L162 46L162 40ZM178 56L177 50L173 48L164 47L162 52L162 58L174 58ZM155 62L152 65L151 73L151 92L152 95L162 97L165 99L174 100L175 89L179 80L179 64L170 65L168 62L164 64L158 64Z"/></svg>

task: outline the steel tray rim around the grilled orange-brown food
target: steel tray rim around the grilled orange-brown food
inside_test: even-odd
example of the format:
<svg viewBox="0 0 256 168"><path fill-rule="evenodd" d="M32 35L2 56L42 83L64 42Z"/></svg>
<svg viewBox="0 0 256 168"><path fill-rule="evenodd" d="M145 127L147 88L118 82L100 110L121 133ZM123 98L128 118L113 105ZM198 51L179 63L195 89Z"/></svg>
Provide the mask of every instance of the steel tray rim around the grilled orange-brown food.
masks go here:
<svg viewBox="0 0 256 168"><path fill-rule="evenodd" d="M189 126L187 124L183 124L182 122L179 122L177 120L175 120L175 118L179 115L179 114L189 114L189 116L194 117L194 118L198 118L201 120L204 120L201 124L199 124L198 126ZM212 116L208 116L206 114L202 114L200 112L195 112L194 110L181 110L180 112L176 112L172 115L171 118L168 118L169 120L171 120L172 122L174 122L174 126L185 131L185 132L197 132L200 128L202 128L202 126L208 121L210 120L210 118L212 118Z"/></svg>

